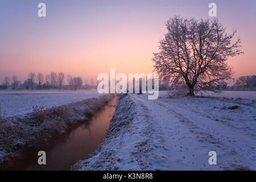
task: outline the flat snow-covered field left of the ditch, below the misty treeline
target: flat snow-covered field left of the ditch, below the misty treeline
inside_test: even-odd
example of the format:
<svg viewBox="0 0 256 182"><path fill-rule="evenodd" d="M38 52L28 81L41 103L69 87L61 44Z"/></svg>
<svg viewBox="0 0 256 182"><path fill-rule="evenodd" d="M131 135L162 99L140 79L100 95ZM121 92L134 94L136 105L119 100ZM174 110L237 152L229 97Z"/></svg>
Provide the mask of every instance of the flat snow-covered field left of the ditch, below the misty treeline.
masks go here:
<svg viewBox="0 0 256 182"><path fill-rule="evenodd" d="M0 91L0 104L2 113L7 115L24 115L32 111L33 106L49 108L72 102L98 97L97 90L92 91L57 91L57 90L9 90Z"/></svg>

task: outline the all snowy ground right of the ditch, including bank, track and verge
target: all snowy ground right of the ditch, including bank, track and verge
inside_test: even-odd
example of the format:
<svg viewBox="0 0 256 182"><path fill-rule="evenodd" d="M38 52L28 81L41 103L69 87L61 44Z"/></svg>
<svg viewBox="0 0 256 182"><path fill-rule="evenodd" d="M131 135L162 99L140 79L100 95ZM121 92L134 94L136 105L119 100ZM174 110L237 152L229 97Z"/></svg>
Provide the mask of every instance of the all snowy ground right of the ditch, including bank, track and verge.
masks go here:
<svg viewBox="0 0 256 182"><path fill-rule="evenodd" d="M256 169L255 101L167 97L123 97L104 142L73 169ZM209 151L217 152L217 165L208 163Z"/></svg>

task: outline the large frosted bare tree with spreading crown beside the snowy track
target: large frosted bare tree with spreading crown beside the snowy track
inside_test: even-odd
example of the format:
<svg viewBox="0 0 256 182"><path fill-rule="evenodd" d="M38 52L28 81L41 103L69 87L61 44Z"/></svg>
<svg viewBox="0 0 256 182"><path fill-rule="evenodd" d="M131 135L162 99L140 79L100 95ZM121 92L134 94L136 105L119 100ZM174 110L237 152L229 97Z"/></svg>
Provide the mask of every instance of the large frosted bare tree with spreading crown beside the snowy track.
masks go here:
<svg viewBox="0 0 256 182"><path fill-rule="evenodd" d="M194 96L195 88L208 90L231 78L232 69L226 60L243 53L240 38L232 43L236 31L227 35L218 19L180 16L168 20L166 28L159 52L152 59L160 79L185 82L188 95Z"/></svg>

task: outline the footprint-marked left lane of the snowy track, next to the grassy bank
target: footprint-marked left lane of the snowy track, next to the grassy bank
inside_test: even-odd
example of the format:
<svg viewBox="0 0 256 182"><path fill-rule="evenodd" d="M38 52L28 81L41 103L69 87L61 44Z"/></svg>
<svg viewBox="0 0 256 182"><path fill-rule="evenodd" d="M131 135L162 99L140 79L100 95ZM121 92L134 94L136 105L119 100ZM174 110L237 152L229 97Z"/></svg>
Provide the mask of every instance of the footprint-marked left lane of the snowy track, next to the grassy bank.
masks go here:
<svg viewBox="0 0 256 182"><path fill-rule="evenodd" d="M164 106L162 102L149 101L147 98L135 95L132 97L140 105L146 106L150 118L152 118L151 121L158 123L156 125L158 135L163 138L164 142L161 144L166 148L166 151L163 151L165 158L163 169L182 170L195 167L197 169L210 169L210 167L214 169L214 166L208 164L209 149L196 142L196 136L191 135L189 131L194 127L187 127L180 122L181 115L175 113L169 106Z"/></svg>

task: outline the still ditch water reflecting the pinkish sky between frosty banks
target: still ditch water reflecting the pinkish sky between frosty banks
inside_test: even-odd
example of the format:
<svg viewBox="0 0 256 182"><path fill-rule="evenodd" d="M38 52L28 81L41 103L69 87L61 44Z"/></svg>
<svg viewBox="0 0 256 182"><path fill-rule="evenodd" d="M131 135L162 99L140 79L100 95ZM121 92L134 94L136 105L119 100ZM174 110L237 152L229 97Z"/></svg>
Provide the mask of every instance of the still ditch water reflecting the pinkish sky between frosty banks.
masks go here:
<svg viewBox="0 0 256 182"><path fill-rule="evenodd" d="M105 138L109 129L110 119L112 119L117 97L109 102L89 121L85 122L67 136L57 140L54 146L42 147L39 150L46 151L46 165L39 165L39 156L32 156L23 160L25 170L69 170L78 160L89 158L98 145ZM25 167L26 166L26 167Z"/></svg>

